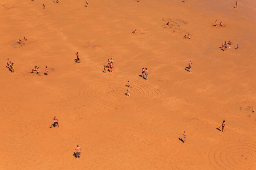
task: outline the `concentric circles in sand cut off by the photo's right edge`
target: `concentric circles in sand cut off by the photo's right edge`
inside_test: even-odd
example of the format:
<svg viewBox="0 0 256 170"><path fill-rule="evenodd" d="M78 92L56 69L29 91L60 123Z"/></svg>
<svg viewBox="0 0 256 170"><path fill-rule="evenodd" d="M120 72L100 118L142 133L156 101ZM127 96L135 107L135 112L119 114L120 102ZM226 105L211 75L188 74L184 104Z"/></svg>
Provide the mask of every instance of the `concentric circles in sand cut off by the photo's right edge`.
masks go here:
<svg viewBox="0 0 256 170"><path fill-rule="evenodd" d="M209 153L216 170L255 170L256 142L231 140L219 144Z"/></svg>

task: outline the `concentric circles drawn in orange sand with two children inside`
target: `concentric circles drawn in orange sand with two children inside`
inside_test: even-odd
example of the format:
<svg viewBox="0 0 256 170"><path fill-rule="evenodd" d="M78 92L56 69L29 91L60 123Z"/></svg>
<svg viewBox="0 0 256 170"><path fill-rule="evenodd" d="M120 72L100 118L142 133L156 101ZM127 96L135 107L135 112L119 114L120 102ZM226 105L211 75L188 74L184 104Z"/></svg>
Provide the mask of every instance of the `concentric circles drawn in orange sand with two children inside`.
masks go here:
<svg viewBox="0 0 256 170"><path fill-rule="evenodd" d="M131 87L127 87L127 81ZM79 95L85 101L103 108L138 108L156 104L162 97L162 93L148 85L146 80L130 78L111 78L99 80L83 86ZM126 96L129 88L130 97Z"/></svg>

